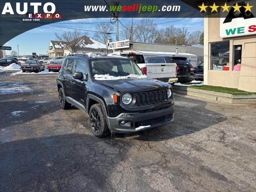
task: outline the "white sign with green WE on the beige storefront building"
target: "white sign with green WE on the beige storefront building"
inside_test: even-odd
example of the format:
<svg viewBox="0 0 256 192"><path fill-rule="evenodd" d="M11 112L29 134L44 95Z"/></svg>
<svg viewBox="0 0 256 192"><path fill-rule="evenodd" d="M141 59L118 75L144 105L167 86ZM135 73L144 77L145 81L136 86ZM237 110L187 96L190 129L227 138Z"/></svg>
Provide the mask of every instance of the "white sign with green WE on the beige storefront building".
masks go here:
<svg viewBox="0 0 256 192"><path fill-rule="evenodd" d="M226 16L225 12L220 13L220 38L256 34L256 17L243 5L246 4L241 2L240 12L234 12L234 8L231 8Z"/></svg>

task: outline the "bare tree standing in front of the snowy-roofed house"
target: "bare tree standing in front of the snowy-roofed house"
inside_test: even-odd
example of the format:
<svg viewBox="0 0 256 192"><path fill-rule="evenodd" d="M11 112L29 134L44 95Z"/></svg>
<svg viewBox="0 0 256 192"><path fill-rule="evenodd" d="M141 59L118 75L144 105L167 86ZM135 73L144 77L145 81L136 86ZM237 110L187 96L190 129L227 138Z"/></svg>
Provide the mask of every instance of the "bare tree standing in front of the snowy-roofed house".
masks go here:
<svg viewBox="0 0 256 192"><path fill-rule="evenodd" d="M71 52L75 53L77 51L77 44L81 40L80 30L64 32L61 35L55 33L56 40L64 42L66 48Z"/></svg>

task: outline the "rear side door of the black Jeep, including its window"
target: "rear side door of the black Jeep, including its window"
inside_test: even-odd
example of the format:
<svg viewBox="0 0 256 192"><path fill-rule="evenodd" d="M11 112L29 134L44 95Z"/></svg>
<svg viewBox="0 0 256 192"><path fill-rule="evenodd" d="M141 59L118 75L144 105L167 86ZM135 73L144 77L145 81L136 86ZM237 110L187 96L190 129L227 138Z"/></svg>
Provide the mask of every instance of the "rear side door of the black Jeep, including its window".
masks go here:
<svg viewBox="0 0 256 192"><path fill-rule="evenodd" d="M65 70L66 72L63 75L63 86L64 86L64 93L66 97L72 97L72 69L74 65L75 59L69 58L66 59Z"/></svg>

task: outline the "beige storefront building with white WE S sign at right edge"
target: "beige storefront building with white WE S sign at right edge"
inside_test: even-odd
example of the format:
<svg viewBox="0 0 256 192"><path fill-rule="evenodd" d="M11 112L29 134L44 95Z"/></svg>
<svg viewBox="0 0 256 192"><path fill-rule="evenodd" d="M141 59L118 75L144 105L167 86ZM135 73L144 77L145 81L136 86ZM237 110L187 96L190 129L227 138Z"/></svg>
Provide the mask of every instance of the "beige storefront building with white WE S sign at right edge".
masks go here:
<svg viewBox="0 0 256 192"><path fill-rule="evenodd" d="M205 85L256 92L256 15L243 13L204 18Z"/></svg>

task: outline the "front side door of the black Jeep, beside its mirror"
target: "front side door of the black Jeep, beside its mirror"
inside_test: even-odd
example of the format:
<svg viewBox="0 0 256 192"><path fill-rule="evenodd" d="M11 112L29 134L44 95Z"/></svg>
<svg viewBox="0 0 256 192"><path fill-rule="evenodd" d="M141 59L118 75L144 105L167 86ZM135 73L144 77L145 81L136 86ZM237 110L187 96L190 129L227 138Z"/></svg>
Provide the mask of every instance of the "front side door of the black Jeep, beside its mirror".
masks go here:
<svg viewBox="0 0 256 192"><path fill-rule="evenodd" d="M74 64L74 72L82 72L84 79L86 78L86 61L81 59L76 59ZM86 98L86 83L87 81L74 79L72 80L72 98L82 104L85 107Z"/></svg>

